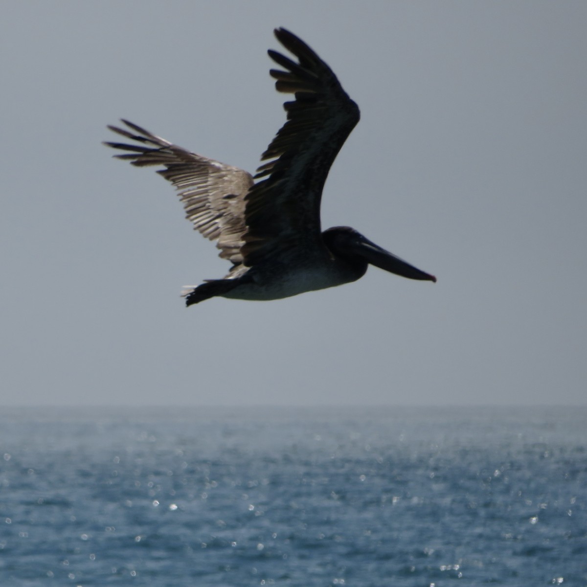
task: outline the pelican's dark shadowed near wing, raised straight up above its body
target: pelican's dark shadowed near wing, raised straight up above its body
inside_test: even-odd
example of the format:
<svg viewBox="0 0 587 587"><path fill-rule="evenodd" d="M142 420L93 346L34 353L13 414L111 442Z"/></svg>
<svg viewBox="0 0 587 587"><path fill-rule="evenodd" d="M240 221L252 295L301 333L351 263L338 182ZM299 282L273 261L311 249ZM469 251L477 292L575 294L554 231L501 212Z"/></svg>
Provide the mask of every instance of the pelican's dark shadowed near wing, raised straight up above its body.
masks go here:
<svg viewBox="0 0 587 587"><path fill-rule="evenodd" d="M279 42L299 63L269 50L284 70L269 73L278 92L294 93L286 102L287 122L276 134L257 170L258 181L245 198L248 231L241 249L245 265L255 265L294 247L321 247L320 200L336 154L359 122L359 108L332 70L301 39L275 29Z"/></svg>

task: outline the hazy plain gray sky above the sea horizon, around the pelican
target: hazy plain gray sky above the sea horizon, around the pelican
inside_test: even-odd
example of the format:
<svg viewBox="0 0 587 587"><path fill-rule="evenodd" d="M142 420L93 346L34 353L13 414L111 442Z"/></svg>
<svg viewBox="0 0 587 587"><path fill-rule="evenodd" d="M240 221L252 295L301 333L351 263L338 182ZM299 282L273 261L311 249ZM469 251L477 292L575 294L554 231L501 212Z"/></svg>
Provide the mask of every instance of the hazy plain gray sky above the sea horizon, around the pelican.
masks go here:
<svg viewBox="0 0 587 587"><path fill-rule="evenodd" d="M323 227L437 284L184 307L229 265L104 126L253 171L276 26L362 113ZM582 1L5 2L0 402L585 404L586 28Z"/></svg>

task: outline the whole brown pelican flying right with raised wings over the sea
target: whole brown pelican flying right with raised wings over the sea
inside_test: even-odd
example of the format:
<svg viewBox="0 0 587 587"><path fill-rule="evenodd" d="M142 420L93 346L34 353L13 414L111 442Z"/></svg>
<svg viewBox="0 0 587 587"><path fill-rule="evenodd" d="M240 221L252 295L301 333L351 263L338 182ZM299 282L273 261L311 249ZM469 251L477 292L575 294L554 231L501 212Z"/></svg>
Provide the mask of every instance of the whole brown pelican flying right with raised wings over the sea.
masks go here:
<svg viewBox="0 0 587 587"><path fill-rule="evenodd" d="M129 151L115 157L137 167L162 166L186 217L204 237L217 241L220 257L232 262L228 275L185 291L187 305L214 296L268 300L356 281L367 265L410 279L436 281L378 247L350 227L322 232L322 188L336 154L359 122L359 108L338 79L301 39L275 29L298 63L269 50L281 69L269 73L285 102L287 122L252 177L247 171L191 153L149 131L122 122L130 130L110 130L145 146L105 143ZM255 181L257 180L257 181Z"/></svg>

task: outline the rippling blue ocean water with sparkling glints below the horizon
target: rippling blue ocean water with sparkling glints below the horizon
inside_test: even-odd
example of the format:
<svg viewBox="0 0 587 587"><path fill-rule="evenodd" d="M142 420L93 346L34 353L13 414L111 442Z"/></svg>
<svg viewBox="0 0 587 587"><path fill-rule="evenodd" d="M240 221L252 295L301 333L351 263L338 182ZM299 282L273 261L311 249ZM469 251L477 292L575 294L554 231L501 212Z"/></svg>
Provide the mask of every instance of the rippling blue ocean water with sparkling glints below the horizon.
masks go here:
<svg viewBox="0 0 587 587"><path fill-rule="evenodd" d="M0 585L587 585L587 409L4 410Z"/></svg>

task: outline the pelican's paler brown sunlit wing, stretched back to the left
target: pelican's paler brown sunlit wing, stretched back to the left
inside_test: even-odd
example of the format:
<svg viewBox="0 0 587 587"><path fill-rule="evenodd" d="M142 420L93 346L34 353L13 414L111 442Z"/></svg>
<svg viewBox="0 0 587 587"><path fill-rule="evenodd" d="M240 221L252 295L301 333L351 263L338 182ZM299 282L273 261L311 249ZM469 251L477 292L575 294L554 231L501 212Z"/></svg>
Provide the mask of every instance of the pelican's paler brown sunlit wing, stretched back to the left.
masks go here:
<svg viewBox="0 0 587 587"><path fill-rule="evenodd" d="M230 259L234 264L240 263L242 235L247 230L244 198L253 183L251 174L238 167L190 153L127 120L122 122L138 134L116 126L108 128L127 139L149 146L104 144L130 151L115 157L127 159L137 167L164 166L165 169L157 173L176 186L185 208L185 217L193 222L195 230L211 241L218 239L216 246L221 250L220 257Z"/></svg>

